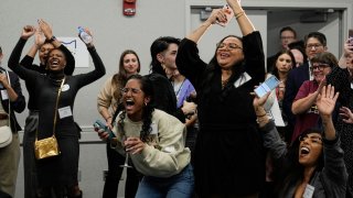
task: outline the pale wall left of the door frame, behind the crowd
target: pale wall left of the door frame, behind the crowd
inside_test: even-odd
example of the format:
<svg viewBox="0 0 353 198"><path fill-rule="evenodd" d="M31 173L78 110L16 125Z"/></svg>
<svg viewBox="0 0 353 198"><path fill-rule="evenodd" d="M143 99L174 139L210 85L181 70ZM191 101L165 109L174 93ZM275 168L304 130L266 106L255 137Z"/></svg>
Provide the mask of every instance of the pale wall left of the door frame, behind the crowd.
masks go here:
<svg viewBox="0 0 353 198"><path fill-rule="evenodd" d="M107 68L107 75L78 92L74 116L81 125L92 125L96 118L100 118L96 110L97 92L105 79L117 72L117 62L124 50L137 51L142 63L141 73L147 74L150 63L149 47L153 40L161 35L184 35L183 1L137 1L137 14L133 18L124 16L121 7L121 0L2 0L0 45L4 52L3 65L7 64L22 26L36 24L38 19L50 22L56 36L76 36L78 25L89 28L94 33L97 52ZM24 53L32 42L29 41ZM75 74L92 69L90 64L89 68L76 68ZM24 112L19 116L22 125L26 114Z"/></svg>

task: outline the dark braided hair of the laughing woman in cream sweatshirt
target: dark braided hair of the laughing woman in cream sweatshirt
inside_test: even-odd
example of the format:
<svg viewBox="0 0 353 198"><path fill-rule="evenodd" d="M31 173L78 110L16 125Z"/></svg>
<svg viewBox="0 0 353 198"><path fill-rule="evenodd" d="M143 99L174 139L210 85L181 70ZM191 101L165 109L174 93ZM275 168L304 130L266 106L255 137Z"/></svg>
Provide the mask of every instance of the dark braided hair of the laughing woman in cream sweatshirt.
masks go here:
<svg viewBox="0 0 353 198"><path fill-rule="evenodd" d="M148 135L152 131L152 129L151 129L152 112L154 111L154 107L153 107L154 94L153 94L152 82L150 81L150 79L148 77L141 76L141 75L132 75L127 79L127 81L129 81L130 79L138 80L141 85L141 90L143 91L145 97L150 97L150 101L143 107L143 110L142 110L143 124L142 124L142 129L140 131L141 141L147 142ZM125 129L124 129L125 117L126 117L126 111L124 110L122 113L120 113L120 116L119 116L119 125L121 127L122 131L125 131Z"/></svg>

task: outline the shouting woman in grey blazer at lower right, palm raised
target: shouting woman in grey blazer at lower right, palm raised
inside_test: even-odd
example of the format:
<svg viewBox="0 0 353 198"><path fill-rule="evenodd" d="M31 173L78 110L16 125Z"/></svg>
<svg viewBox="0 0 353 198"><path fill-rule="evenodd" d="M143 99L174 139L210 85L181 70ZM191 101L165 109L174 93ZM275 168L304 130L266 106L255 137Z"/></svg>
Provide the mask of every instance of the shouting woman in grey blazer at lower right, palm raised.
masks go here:
<svg viewBox="0 0 353 198"><path fill-rule="evenodd" d="M256 114L265 113L263 106L267 97L254 99ZM315 98L315 105L323 133L321 130L308 129L289 150L280 140L274 122L268 117L258 117L264 132L264 146L269 150L277 165L276 197L345 197L347 173L340 138L332 122L338 97L333 86L322 88Z"/></svg>

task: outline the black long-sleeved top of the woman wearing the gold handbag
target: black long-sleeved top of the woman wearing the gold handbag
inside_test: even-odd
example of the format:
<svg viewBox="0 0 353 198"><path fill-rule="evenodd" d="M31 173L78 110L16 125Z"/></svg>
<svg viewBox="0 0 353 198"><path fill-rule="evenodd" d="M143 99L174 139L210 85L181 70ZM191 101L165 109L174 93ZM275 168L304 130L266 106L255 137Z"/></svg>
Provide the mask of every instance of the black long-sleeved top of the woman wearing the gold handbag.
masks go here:
<svg viewBox="0 0 353 198"><path fill-rule="evenodd" d="M26 81L28 86L35 94L35 98L39 103L40 121L39 121L39 139L47 138L52 135L53 132L53 120L54 120L54 109L57 97L57 90L60 88L60 82L57 79L52 79L51 75L42 75L38 72L26 69L19 65L19 59L21 56L21 51L25 41L20 40L14 47L10 59L9 67L17 73L20 78ZM58 109L69 108L71 112L74 109L74 101L78 89L82 87L97 80L105 75L106 70L104 64L94 47L88 48L88 52L93 58L95 70L87 74L79 74L75 76L66 76L65 84L60 97ZM74 123L73 116L66 118L58 118L56 123L56 135L75 135L77 128Z"/></svg>

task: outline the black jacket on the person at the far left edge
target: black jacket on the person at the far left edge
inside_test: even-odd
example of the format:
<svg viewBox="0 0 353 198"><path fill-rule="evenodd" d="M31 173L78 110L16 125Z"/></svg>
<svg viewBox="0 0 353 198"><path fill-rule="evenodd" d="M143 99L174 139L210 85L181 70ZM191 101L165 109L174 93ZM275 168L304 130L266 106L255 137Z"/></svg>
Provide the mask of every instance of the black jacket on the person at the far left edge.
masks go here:
<svg viewBox="0 0 353 198"><path fill-rule="evenodd" d="M0 72L6 73L6 69L0 67ZM12 89L14 90L15 94L18 94L18 99L15 101L10 102L11 130L12 130L12 133L18 133L22 129L15 118L14 111L18 113L21 113L24 110L25 99L24 99L24 96L22 95L21 84L20 84L20 79L19 79L18 75L15 75L12 72L9 72L9 77L10 77L10 82L11 82ZM2 88L0 88L0 90L1 89L4 89L4 88L2 87ZM4 111L9 113L9 101L10 100L9 99L3 100L1 95L0 95L0 98L1 98L1 105L4 109Z"/></svg>

